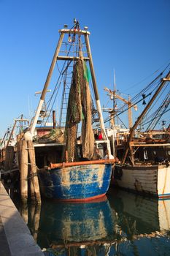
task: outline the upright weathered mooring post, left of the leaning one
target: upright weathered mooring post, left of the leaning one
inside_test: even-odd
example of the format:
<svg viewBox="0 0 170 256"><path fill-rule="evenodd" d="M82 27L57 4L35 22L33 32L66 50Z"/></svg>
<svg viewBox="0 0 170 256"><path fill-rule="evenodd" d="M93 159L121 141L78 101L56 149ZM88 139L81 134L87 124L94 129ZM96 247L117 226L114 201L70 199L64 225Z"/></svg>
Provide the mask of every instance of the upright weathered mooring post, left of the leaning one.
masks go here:
<svg viewBox="0 0 170 256"><path fill-rule="evenodd" d="M23 203L27 203L28 199L28 150L26 140L21 140L20 154L20 195Z"/></svg>

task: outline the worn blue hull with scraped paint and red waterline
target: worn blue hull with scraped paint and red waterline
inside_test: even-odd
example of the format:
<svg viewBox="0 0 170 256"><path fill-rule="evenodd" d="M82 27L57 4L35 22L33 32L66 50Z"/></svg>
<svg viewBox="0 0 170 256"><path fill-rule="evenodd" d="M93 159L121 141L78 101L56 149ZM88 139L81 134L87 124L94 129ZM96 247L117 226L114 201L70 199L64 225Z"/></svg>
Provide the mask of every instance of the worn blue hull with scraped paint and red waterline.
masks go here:
<svg viewBox="0 0 170 256"><path fill-rule="evenodd" d="M43 196L58 200L92 200L109 189L112 164L79 165L39 170Z"/></svg>

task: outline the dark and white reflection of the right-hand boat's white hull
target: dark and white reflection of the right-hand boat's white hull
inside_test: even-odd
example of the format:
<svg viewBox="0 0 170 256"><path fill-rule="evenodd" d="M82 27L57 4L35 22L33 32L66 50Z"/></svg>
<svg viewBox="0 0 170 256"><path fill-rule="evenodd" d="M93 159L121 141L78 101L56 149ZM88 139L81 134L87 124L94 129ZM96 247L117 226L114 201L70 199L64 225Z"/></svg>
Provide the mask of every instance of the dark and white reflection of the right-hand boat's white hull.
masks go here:
<svg viewBox="0 0 170 256"><path fill-rule="evenodd" d="M123 190L108 195L117 225L128 239L170 234L170 200L142 197Z"/></svg>

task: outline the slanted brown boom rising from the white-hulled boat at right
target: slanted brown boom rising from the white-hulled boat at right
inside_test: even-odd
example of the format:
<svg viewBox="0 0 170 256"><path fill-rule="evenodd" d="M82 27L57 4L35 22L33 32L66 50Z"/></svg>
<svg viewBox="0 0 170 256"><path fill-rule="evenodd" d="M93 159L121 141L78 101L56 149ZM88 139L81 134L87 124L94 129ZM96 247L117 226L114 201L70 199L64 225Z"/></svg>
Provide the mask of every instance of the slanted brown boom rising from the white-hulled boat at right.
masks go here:
<svg viewBox="0 0 170 256"><path fill-rule="evenodd" d="M152 103L154 102L155 98L158 96L158 94L160 93L160 91L163 89L163 86L166 84L166 82L170 81L170 71L168 72L168 74L166 75L166 78L163 78L161 80L161 85L158 87L157 91L155 91L155 94L152 96L152 99L150 99L150 102L147 104L146 108L144 108L144 110L142 111L141 115L139 116L139 118L137 118L134 126L131 128L131 132L130 135L128 137L128 142L126 144L125 147L125 153L123 156L123 164L125 163L125 159L127 157L128 151L130 150L130 155L131 155L131 163L132 165L134 165L134 154L132 151L132 147L131 147L131 140L134 136L134 130L136 129L136 127L139 125L140 121L142 121L142 118L144 117L144 115L147 113L147 110L149 110L150 106L152 105Z"/></svg>

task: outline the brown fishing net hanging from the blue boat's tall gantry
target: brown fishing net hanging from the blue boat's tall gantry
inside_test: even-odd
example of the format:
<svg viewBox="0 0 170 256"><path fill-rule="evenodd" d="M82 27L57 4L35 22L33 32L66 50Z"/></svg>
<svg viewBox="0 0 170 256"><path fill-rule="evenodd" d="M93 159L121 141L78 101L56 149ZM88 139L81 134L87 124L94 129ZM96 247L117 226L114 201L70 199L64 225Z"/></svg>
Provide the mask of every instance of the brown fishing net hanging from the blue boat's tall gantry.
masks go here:
<svg viewBox="0 0 170 256"><path fill-rule="evenodd" d="M66 159L67 152L69 162L74 161L77 127L80 121L82 121L82 157L88 159L93 157L92 102L87 76L85 75L87 69L85 65L82 59L75 62L69 92L65 129L66 148L64 150L64 159Z"/></svg>

